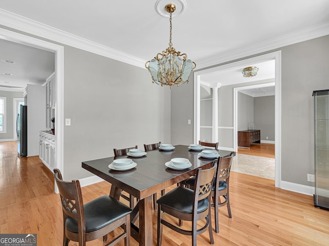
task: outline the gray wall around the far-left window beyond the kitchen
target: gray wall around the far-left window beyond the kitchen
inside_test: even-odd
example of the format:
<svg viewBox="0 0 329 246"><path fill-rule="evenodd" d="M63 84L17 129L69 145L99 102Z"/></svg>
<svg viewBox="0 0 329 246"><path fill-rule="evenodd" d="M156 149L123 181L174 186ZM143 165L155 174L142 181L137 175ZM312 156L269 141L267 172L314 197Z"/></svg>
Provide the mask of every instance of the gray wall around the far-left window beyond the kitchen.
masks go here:
<svg viewBox="0 0 329 246"><path fill-rule="evenodd" d="M0 91L0 96L6 97L6 133L0 133L0 139L14 138L13 98L23 98L23 92ZM15 133L16 134L16 133Z"/></svg>

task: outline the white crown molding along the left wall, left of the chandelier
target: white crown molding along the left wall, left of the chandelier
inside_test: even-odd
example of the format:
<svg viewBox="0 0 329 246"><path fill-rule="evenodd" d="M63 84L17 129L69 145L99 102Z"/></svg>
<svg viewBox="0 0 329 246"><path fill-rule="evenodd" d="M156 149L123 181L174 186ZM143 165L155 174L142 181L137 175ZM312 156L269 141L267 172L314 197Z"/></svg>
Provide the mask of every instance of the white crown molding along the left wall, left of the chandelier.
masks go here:
<svg viewBox="0 0 329 246"><path fill-rule="evenodd" d="M47 38L55 42L102 55L123 63L145 68L145 60L124 52L106 47L77 35L47 26L32 19L0 9L0 24L19 31Z"/></svg>

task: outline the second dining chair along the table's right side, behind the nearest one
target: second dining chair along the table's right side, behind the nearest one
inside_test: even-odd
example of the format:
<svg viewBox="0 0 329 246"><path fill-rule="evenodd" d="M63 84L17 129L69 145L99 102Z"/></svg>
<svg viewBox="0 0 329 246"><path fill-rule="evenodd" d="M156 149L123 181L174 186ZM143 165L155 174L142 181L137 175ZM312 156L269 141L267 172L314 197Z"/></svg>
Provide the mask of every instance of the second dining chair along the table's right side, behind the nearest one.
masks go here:
<svg viewBox="0 0 329 246"><path fill-rule="evenodd" d="M213 187L211 191L212 203L211 207L214 207L215 213L215 231L220 232L218 222L218 208L227 206L228 217L232 218L231 206L230 206L230 193L229 193L229 181L230 181L230 170L232 165L233 157L235 152L231 152L230 156L219 157L215 159L214 165L217 166L217 170L214 176ZM185 185L190 189L194 188L195 177L189 178L185 181ZM221 201L221 197L224 201Z"/></svg>

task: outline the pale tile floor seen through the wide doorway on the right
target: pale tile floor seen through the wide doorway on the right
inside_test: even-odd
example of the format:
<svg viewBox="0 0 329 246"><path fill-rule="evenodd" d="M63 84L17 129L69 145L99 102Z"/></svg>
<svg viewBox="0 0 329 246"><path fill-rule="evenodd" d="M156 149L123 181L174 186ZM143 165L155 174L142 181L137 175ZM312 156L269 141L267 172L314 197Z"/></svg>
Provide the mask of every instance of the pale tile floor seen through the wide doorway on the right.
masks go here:
<svg viewBox="0 0 329 246"><path fill-rule="evenodd" d="M275 180L275 159L236 154L231 171Z"/></svg>

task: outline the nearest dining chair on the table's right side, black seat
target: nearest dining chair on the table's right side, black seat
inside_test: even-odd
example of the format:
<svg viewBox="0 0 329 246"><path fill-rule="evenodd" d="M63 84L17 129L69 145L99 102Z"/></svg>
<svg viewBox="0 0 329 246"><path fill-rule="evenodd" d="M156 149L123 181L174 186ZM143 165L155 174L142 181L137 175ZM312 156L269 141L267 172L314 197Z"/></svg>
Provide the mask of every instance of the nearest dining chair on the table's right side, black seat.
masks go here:
<svg viewBox="0 0 329 246"><path fill-rule="evenodd" d="M158 219L157 219L157 245L162 241L162 224L166 227L184 234L192 236L192 245L196 245L196 235L209 231L210 243L214 244L211 227L211 188L216 166L209 169L197 169L194 183L194 190L178 186L167 194L161 196L158 200ZM163 213L162 213L163 212ZM167 213L180 220L192 222L191 230L182 230L179 226L168 222L162 218ZM197 229L197 221L206 219L202 228ZM200 226L198 222L198 227Z"/></svg>

